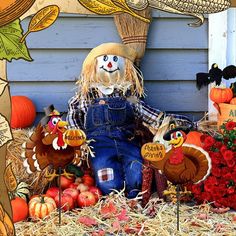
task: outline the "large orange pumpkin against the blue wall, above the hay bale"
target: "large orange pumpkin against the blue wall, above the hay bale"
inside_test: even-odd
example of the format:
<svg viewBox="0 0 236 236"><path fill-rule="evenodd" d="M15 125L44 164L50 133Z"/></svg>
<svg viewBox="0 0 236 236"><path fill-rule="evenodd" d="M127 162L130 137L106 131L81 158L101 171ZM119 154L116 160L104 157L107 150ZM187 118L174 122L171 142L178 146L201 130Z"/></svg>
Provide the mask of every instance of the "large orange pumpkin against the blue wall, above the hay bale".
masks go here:
<svg viewBox="0 0 236 236"><path fill-rule="evenodd" d="M11 104L11 127L26 128L31 126L36 117L34 103L25 96L12 96Z"/></svg>

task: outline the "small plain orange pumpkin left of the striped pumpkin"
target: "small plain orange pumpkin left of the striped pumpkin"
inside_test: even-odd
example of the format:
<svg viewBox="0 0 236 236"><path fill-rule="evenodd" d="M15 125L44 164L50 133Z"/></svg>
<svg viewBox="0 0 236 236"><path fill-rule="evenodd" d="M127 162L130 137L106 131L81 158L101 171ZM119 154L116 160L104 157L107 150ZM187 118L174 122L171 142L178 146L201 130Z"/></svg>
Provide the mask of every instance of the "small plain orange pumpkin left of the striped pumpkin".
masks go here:
<svg viewBox="0 0 236 236"><path fill-rule="evenodd" d="M29 208L23 198L15 197L11 200L12 220L14 223L26 220L28 217Z"/></svg>

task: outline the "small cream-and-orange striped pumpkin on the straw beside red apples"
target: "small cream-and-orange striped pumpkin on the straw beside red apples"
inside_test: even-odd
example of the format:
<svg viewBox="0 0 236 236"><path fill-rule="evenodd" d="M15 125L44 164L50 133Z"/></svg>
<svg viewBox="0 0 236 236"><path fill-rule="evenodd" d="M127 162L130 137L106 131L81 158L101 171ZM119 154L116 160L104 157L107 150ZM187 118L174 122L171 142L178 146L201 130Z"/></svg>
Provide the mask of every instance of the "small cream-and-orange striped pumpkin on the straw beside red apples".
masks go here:
<svg viewBox="0 0 236 236"><path fill-rule="evenodd" d="M43 219L56 208L51 197L36 196L29 201L29 216L33 219Z"/></svg>

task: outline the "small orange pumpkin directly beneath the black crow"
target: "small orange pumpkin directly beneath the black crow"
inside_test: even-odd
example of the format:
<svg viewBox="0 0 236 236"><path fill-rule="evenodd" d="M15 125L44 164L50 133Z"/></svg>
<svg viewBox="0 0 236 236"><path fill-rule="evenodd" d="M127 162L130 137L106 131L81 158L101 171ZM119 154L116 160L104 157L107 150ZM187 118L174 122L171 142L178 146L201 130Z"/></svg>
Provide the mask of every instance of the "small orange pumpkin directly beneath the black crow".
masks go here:
<svg viewBox="0 0 236 236"><path fill-rule="evenodd" d="M228 103L233 97L233 91L230 88L212 88L210 99L216 103Z"/></svg>

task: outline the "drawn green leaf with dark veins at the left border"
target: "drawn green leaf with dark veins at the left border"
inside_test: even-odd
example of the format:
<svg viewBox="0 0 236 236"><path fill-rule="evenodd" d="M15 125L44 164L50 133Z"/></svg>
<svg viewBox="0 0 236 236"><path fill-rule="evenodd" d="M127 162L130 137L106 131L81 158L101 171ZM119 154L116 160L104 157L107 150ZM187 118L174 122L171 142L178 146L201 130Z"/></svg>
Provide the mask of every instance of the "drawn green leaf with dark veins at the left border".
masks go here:
<svg viewBox="0 0 236 236"><path fill-rule="evenodd" d="M0 60L24 59L32 61L25 43L20 43L22 27L17 19L10 24L0 27Z"/></svg>

